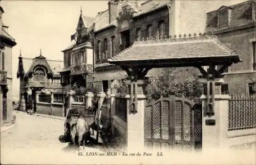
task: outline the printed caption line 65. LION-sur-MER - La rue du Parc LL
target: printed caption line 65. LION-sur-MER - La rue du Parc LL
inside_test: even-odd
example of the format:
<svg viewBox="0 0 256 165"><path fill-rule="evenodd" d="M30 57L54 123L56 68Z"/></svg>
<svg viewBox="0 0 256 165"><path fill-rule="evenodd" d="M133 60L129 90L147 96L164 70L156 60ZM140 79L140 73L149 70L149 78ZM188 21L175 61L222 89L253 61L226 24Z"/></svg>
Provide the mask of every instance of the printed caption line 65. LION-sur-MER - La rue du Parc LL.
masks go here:
<svg viewBox="0 0 256 165"><path fill-rule="evenodd" d="M127 153L127 152L106 152L106 153L100 153L100 152L78 152L78 156L163 156L162 152L137 152L137 153Z"/></svg>

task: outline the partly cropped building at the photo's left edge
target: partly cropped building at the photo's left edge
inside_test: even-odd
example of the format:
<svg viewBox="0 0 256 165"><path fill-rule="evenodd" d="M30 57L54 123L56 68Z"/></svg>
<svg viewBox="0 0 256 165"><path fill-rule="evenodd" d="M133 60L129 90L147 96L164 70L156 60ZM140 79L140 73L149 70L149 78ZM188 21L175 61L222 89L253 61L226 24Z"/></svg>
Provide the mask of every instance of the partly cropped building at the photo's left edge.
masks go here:
<svg viewBox="0 0 256 165"><path fill-rule="evenodd" d="M8 26L2 21L0 6L0 116L1 124L12 120L12 47L14 38L8 33Z"/></svg>

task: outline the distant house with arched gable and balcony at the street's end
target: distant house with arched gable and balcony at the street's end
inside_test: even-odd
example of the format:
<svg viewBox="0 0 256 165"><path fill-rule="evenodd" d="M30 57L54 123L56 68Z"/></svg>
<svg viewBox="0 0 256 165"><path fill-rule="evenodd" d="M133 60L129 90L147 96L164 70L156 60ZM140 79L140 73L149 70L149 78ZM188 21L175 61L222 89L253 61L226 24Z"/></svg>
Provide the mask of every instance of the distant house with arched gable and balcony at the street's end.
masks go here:
<svg viewBox="0 0 256 165"><path fill-rule="evenodd" d="M35 58L19 55L17 78L19 78L19 99L24 100L26 110L33 109L37 113L62 115L64 95L61 92L59 72L63 61L48 60L40 55ZM44 89L44 90L41 90ZM50 107L52 105L52 107ZM20 108L22 108L20 104Z"/></svg>

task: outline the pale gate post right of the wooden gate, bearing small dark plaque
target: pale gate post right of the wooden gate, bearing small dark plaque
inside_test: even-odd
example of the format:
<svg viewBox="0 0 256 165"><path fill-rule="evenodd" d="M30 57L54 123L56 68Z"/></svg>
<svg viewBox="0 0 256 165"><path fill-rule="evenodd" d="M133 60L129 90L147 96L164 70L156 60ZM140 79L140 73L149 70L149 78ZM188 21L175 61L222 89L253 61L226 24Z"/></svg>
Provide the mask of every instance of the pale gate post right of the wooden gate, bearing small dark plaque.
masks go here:
<svg viewBox="0 0 256 165"><path fill-rule="evenodd" d="M219 86L220 84L216 85ZM228 100L229 95L221 95L216 87L214 114L207 114L207 96L202 95L202 151L225 149L228 139ZM211 98L211 97L210 97Z"/></svg>

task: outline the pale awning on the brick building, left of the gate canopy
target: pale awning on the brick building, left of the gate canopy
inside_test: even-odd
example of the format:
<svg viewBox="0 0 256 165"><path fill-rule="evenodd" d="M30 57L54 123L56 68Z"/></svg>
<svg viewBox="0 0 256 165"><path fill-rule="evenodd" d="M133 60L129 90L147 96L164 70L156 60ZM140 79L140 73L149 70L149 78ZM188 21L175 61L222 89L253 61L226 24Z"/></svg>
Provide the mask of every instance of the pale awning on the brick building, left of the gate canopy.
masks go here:
<svg viewBox="0 0 256 165"><path fill-rule="evenodd" d="M101 80L114 80L116 79L124 79L127 73L124 70L110 70L109 72L99 72L95 74L95 81Z"/></svg>

